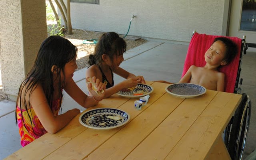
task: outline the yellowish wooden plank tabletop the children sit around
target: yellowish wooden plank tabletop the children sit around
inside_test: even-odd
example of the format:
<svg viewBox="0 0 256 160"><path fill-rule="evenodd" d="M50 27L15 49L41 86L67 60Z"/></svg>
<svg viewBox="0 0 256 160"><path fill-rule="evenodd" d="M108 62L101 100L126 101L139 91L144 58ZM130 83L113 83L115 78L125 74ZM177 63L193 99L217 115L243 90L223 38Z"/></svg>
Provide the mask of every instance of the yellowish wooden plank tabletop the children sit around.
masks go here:
<svg viewBox="0 0 256 160"><path fill-rule="evenodd" d="M126 111L130 120L110 130L87 128L77 115L56 134L45 134L5 160L204 160L230 159L220 138L241 95L207 90L185 99L166 93L169 84L147 81L154 88L148 104L118 95L90 109ZM87 109L86 111L90 110Z"/></svg>

